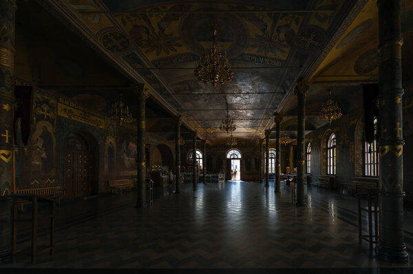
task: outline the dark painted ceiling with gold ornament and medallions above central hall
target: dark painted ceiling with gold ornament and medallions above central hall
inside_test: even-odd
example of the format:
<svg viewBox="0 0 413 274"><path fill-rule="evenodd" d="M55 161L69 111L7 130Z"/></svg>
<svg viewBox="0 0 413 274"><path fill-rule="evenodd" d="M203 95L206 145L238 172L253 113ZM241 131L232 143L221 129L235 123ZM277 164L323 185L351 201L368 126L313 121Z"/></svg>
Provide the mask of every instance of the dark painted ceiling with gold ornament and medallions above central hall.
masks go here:
<svg viewBox="0 0 413 274"><path fill-rule="evenodd" d="M308 71L313 76L328 75L329 69L341 73L335 60L377 24L370 2L375 1L47 0L43 5L131 79L151 87L151 95L182 115L200 137L219 141L226 137L218 130L226 109L235 118L234 136L256 139L272 126L271 116L290 102L294 84ZM370 17L362 20L363 12ZM215 89L193 76L213 27L235 73ZM337 35L337 46L328 54L325 47ZM354 57L362 57L358 73L374 73L369 49L363 46ZM317 121L310 124L315 126Z"/></svg>

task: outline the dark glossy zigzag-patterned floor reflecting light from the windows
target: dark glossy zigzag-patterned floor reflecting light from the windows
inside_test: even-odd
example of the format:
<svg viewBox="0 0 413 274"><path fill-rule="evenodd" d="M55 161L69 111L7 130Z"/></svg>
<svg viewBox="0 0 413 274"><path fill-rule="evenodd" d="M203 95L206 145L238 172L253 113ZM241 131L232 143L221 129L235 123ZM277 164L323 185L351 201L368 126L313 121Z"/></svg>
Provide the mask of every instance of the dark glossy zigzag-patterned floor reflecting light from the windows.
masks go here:
<svg viewBox="0 0 413 274"><path fill-rule="evenodd" d="M54 257L43 253L32 265L23 251L17 264L3 267L409 267L378 262L366 242L358 244L355 198L317 187L308 187L307 194L307 205L295 207L284 183L275 194L272 185L227 182L200 184L195 191L188 184L179 195L158 192L151 209L136 209L134 192L63 203L56 213ZM412 218L405 227L412 252ZM40 225L41 232L47 229ZM21 227L19 248L30 249L29 239L30 227Z"/></svg>

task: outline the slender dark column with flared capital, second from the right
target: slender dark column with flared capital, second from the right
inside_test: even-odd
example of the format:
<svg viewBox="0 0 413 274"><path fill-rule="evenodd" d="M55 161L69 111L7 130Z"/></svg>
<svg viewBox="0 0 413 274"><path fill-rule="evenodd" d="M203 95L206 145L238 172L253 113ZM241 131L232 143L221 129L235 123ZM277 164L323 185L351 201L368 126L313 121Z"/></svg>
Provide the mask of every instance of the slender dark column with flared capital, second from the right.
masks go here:
<svg viewBox="0 0 413 274"><path fill-rule="evenodd" d="M295 85L295 95L298 100L297 122L297 205L304 205L304 139L306 138L306 84Z"/></svg>

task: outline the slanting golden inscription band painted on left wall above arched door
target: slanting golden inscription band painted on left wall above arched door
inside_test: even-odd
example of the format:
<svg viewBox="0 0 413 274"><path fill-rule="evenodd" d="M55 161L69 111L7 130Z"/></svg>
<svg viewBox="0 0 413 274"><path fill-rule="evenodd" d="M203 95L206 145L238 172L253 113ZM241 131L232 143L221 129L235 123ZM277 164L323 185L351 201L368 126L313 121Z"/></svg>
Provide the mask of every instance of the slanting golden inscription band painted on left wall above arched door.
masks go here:
<svg viewBox="0 0 413 274"><path fill-rule="evenodd" d="M57 114L67 119L72 119L76 122L105 129L105 119L86 113L85 110L76 109L74 106L68 106L62 102L57 104Z"/></svg>

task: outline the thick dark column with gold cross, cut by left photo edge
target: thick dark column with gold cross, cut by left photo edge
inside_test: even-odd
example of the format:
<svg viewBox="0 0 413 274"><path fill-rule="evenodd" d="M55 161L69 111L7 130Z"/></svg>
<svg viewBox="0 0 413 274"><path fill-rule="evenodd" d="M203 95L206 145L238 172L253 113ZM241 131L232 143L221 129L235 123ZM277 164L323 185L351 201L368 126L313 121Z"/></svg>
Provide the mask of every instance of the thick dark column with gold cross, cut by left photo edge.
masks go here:
<svg viewBox="0 0 413 274"><path fill-rule="evenodd" d="M14 0L0 0L0 264L11 262L14 192Z"/></svg>

